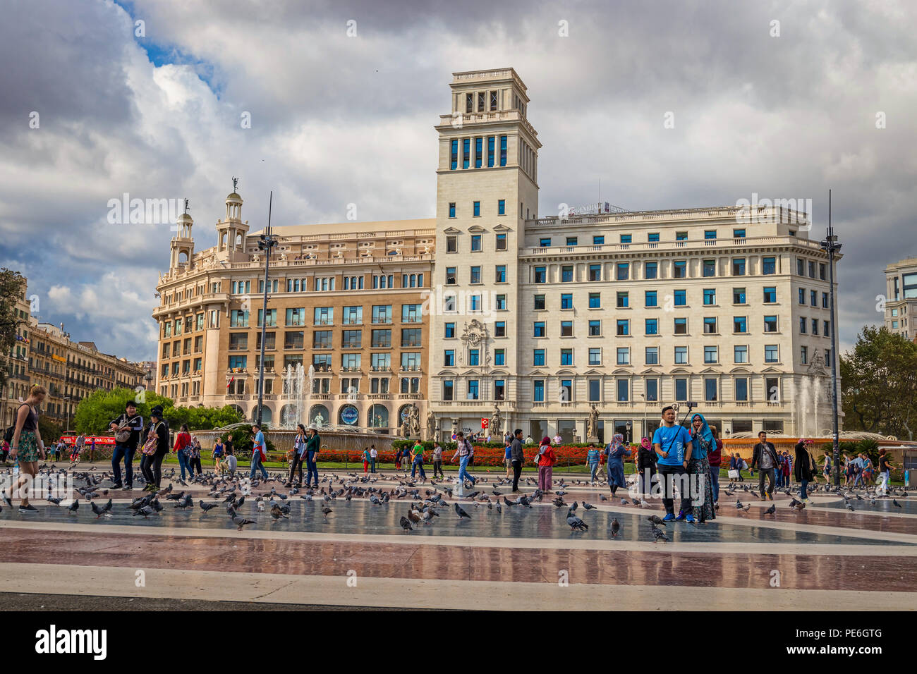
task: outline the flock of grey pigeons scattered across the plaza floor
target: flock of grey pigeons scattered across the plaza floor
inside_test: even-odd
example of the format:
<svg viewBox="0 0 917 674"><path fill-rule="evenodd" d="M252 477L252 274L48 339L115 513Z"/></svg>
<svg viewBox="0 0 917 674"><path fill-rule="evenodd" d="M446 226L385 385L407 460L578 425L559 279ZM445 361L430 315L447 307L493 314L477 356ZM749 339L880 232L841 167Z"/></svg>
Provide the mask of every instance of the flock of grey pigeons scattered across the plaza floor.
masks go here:
<svg viewBox="0 0 917 674"><path fill-rule="evenodd" d="M59 476L61 474L66 475L67 472L65 469L58 470L46 465L41 466L39 470L48 475L55 473ZM504 506L506 508L531 508L532 503L543 503L546 496L545 493L537 489L536 481L530 478L522 481L528 487L532 487L533 485L535 487L534 491L528 494L508 494L500 491L501 487L512 483L504 478L492 480L486 477L480 477L477 484L489 485L490 493L481 489L458 497L454 496L453 489L449 482L424 480L420 482L422 486L418 486L418 482L411 480L406 474L403 476L394 475L392 480L397 482L397 486L385 489L384 487L376 486L376 483L380 480L387 479L381 473L369 476L359 476L356 473L348 473L343 477L331 473L330 475L326 474L322 478L322 486L319 489L301 490L299 487L284 484L286 476L283 474L269 476L266 481L251 481L249 484L246 484L241 477L229 478L220 476L216 473L196 475L193 476L190 481L186 482L178 480L176 473L177 471L173 469L171 473L165 476L166 480L169 481L169 486L164 489L149 492L142 497L133 499L131 503L127 504L127 508L132 512L133 516L147 519L163 511L167 511L167 508L171 508L172 510L193 510L194 499L192 492L190 489L188 491L176 491L173 486L175 481L179 482L183 487L196 485L198 487L207 488L207 497L211 499L211 501L205 502L203 498L199 498L197 503L197 506L202 512L202 516L208 514L209 511L222 504L226 511L226 515L232 521L232 524L237 527L238 531L241 531L246 525L256 524L257 522L255 519L250 519L240 514L242 505L246 503L247 500L254 503L254 508L258 513L267 511L271 516L271 524L290 518L292 500L295 498L302 499L306 503L319 503L324 522L327 522L328 515L333 513L331 505L337 499L344 499L347 502L351 501L353 498L366 499L371 506L384 506L392 501L403 500L405 503L408 503L408 505L405 514L399 519L399 525L403 531L407 533L414 531L414 527L418 525L432 525L436 517L446 514L450 505L447 499L453 500L453 503L451 503L452 510L455 516L458 517L458 520L462 521L471 519L471 515L458 503L459 499L461 499L466 506L473 505L476 508L483 507L489 511L496 510L498 514L502 514ZM109 490L104 487L105 481L110 480L110 475L107 471L96 472L95 468L91 467L89 470L74 472L72 474L72 479L74 484L79 484L79 486L75 487L75 491L79 494L79 497L73 498L70 503L61 503L61 498L56 498L49 493L46 501L60 506L61 508L65 508L70 514L76 514L80 508L80 497L82 497L89 503L96 519L111 516L113 501L110 497L104 504L100 505L97 503L109 496ZM142 476L138 476L138 481L141 485L143 484L142 480ZM429 483L429 487L433 489L425 488L427 482ZM255 493L259 488L266 489L269 484L271 485L270 491L262 491L258 494ZM580 511L580 503L576 501L572 504L564 502L563 497L568 493L566 490L571 486L579 486L580 484L589 485L590 482L585 480L573 480L570 482L563 480L559 481L557 490L553 492L554 498L551 502L558 509L567 508L565 521L566 524L569 525L571 532L589 531L589 524L580 517L580 513L585 515L586 512L596 509L595 505L586 503L585 501L581 504L582 511ZM245 489L246 486L249 487L249 490ZM280 491L278 491L278 487L280 487ZM421 493L422 489L424 490L423 493ZM833 492L829 487L821 484L813 484L810 486L810 494L819 491L823 491L826 494L835 493L842 496L846 509L851 512L855 511L852 504L855 499L856 501L864 502L868 500L869 503L875 505L878 499L890 498L892 503L900 508L900 503L898 503L895 497L899 495L901 497L907 497L908 495L907 492L900 488L893 488L889 492L889 495L886 496L879 495L876 492L869 492L868 490L861 495L859 492ZM734 496L737 492L755 496L758 499L763 499L764 496L764 494L758 494L748 485L739 485L735 482L730 482L724 489L724 495L727 497ZM801 503L797 501L795 497L792 497L793 492L790 491L790 489L786 490L786 494L791 497L788 507L796 512L801 512L805 507L805 503ZM511 500L510 496L514 498ZM7 504L12 505L6 493L3 494L3 497ZM608 497L602 493L599 494L599 499L600 501L609 500ZM646 500L633 498L632 501L633 503L628 502L627 499L624 498L620 499L622 505L633 504L639 508L650 507ZM742 503L740 498L736 498L736 511L747 512L750 507L750 503ZM2 509L3 506L0 505L0 512L2 512ZM776 510L776 503L772 503L770 507L763 512L764 514L772 515ZM656 514L649 515L646 520L649 523L650 534L655 541L668 541L665 528L660 528L665 527L666 522ZM609 536L611 538L617 538L621 534L621 529L621 523L616 517L613 517L608 523Z"/></svg>

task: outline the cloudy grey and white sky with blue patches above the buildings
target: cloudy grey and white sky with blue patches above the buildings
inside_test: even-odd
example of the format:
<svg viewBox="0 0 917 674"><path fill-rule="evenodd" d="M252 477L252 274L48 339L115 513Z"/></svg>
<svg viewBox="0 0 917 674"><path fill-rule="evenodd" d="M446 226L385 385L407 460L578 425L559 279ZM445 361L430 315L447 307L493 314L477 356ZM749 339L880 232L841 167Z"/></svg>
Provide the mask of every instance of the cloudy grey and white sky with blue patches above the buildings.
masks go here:
<svg viewBox="0 0 917 674"><path fill-rule="evenodd" d="M450 73L512 66L544 144L543 215L600 181L631 210L758 193L811 198L814 237L832 188L849 347L881 321L885 265L917 255L914 26L910 0L12 0L0 265L28 275L43 320L155 359L171 231L109 222L109 200L187 196L198 249L233 175L253 228L271 189L276 225L341 222L351 203L359 220L432 217Z"/></svg>

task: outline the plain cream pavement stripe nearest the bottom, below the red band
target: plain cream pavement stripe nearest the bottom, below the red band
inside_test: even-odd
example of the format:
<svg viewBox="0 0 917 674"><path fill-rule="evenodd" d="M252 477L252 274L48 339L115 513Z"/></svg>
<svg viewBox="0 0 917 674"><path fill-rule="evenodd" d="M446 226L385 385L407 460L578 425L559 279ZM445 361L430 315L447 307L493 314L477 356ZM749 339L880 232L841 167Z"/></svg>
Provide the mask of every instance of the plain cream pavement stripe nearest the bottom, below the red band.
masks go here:
<svg viewBox="0 0 917 674"><path fill-rule="evenodd" d="M486 580L414 580L344 576L287 576L149 569L137 587L135 569L42 564L0 564L0 591L41 594L163 597L237 602L301 602L328 606L538 611L672 609L722 611L848 610L910 607L914 595L895 591L787 590L784 588L688 588L590 585L570 581L525 583Z"/></svg>

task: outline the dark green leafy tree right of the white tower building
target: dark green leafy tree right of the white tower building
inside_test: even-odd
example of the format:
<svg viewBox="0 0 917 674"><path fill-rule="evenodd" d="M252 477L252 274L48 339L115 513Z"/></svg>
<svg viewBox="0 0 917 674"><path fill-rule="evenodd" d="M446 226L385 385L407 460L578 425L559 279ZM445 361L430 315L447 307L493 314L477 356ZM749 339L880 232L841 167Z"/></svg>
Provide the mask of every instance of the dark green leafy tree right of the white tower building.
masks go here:
<svg viewBox="0 0 917 674"><path fill-rule="evenodd" d="M841 356L845 430L913 439L917 431L917 344L865 326Z"/></svg>

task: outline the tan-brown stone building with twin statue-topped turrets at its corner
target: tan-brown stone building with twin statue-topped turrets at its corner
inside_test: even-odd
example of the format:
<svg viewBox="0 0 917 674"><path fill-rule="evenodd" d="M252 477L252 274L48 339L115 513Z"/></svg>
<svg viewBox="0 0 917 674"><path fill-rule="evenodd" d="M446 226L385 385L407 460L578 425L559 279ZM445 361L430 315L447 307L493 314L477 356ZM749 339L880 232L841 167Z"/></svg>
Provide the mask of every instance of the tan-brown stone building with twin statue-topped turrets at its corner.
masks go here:
<svg viewBox="0 0 917 674"><path fill-rule="evenodd" d="M195 251L179 218L161 275L156 390L179 405L235 405L257 416L265 326L262 421L394 433L412 405L424 419L434 220L275 227L268 310L263 232L249 233L242 198L226 197L217 245ZM311 377L297 393L287 372ZM304 376L306 376L304 374ZM304 408L301 406L304 405Z"/></svg>

